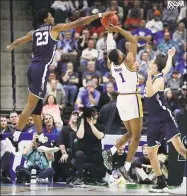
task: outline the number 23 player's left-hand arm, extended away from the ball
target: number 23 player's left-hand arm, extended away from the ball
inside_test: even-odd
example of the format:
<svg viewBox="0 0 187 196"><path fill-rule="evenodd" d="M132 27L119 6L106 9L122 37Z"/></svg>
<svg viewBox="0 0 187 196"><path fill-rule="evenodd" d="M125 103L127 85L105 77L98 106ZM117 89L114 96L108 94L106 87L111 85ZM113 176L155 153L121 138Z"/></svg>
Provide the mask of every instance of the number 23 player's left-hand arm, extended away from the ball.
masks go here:
<svg viewBox="0 0 187 196"><path fill-rule="evenodd" d="M15 48L29 42L32 40L32 34L33 31L30 31L29 33L27 33L27 35L25 35L24 37L21 37L19 39L16 39L13 43L11 43L10 45L7 46L7 49L9 51L14 50Z"/></svg>

